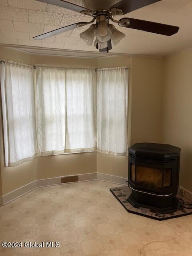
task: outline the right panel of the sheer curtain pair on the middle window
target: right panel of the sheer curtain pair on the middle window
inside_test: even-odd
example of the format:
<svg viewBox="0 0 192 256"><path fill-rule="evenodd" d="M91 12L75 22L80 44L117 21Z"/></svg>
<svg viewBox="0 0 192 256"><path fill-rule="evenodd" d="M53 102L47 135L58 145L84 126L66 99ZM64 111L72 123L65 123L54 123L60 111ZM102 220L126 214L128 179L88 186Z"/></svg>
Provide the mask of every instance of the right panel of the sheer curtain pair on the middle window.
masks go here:
<svg viewBox="0 0 192 256"><path fill-rule="evenodd" d="M96 150L95 70L66 70L66 152Z"/></svg>

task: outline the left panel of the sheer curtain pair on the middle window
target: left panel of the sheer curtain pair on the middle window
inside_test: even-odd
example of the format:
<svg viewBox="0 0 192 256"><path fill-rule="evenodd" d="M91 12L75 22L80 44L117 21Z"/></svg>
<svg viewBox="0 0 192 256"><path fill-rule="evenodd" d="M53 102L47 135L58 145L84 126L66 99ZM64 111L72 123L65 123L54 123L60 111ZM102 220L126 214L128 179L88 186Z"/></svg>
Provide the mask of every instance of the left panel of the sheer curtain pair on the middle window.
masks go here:
<svg viewBox="0 0 192 256"><path fill-rule="evenodd" d="M66 140L66 73L36 67L37 153L62 154Z"/></svg>

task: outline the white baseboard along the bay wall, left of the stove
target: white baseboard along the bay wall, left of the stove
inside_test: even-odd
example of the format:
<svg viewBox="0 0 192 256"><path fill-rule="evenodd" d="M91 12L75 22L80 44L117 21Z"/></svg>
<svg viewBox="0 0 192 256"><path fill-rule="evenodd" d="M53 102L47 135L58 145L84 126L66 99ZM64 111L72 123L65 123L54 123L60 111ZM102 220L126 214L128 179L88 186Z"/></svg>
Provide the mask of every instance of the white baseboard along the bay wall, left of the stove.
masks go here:
<svg viewBox="0 0 192 256"><path fill-rule="evenodd" d="M101 181L110 182L110 183L119 184L119 185L127 185L126 178L118 177L110 174L98 173L98 172L47 178L42 180L35 180L33 182L30 182L20 188L17 188L5 194L4 196L0 196L0 206L4 206L5 204L12 202L13 200L19 198L20 196L23 196L24 194L27 194L28 192L36 188L60 185L62 184L61 178L68 177L68 176L79 176L78 182L84 182L84 181L90 181L90 180L101 180ZM74 183L74 182L71 182L71 183ZM68 183L63 183L62 185L65 185L65 184L68 184Z"/></svg>

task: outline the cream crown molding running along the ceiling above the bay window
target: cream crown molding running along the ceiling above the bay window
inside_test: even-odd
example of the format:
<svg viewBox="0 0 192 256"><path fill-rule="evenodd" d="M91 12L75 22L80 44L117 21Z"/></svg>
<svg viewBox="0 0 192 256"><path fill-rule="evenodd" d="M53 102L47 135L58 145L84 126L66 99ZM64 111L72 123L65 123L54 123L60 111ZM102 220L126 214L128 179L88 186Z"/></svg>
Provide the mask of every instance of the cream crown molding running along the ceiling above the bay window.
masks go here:
<svg viewBox="0 0 192 256"><path fill-rule="evenodd" d="M16 44L0 44L0 46L11 48L32 55L47 55L47 56L58 56L68 58L111 58L116 56L126 57L142 57L142 58L164 58L162 56L152 55L140 55L140 54L126 54L126 53L114 53L114 52L93 52L93 51L78 51L78 50L64 50L54 48L44 48L36 46L23 46Z"/></svg>

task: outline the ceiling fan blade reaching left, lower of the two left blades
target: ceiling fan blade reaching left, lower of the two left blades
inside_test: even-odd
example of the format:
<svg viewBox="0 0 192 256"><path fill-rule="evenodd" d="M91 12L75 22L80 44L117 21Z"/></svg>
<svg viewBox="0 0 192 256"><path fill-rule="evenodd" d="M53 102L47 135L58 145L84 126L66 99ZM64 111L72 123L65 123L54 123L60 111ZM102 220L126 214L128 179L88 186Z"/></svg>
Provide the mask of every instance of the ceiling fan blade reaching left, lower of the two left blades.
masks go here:
<svg viewBox="0 0 192 256"><path fill-rule="evenodd" d="M65 27L62 27L62 28L58 28L58 29L52 30L50 32L41 34L39 36L34 36L33 39L35 39L35 40L42 40L42 39L48 38L50 36L55 36L55 35L61 34L63 32L66 32L68 30L72 30L74 28L85 26L86 24L89 24L89 23L90 22L78 22L78 23L75 23L75 24L71 24L69 26L65 26Z"/></svg>

